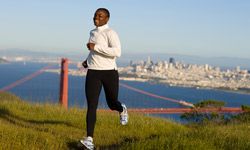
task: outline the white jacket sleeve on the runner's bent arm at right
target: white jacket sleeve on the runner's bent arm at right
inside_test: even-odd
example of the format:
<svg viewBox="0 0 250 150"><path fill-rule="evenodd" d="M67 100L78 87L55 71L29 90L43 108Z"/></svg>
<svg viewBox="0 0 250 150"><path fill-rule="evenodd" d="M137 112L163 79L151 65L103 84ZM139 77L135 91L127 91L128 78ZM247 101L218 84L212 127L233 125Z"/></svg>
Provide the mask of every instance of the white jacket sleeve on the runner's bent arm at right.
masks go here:
<svg viewBox="0 0 250 150"><path fill-rule="evenodd" d="M96 44L94 50L109 57L121 56L121 43L116 32L111 31L108 34L108 46Z"/></svg>

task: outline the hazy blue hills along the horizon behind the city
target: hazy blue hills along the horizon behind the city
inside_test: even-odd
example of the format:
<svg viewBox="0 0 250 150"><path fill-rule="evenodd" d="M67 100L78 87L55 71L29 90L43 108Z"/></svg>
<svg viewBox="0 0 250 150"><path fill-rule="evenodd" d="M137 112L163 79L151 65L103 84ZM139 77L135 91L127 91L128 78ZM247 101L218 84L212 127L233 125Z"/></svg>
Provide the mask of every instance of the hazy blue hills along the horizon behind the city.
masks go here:
<svg viewBox="0 0 250 150"><path fill-rule="evenodd" d="M72 50L72 51L32 51L25 49L4 49L0 50L0 56L30 56L32 58L62 58L67 57L72 61L83 61L88 56L87 50ZM250 70L250 58L233 58L233 57L206 57L206 56L193 56L182 55L174 53L126 53L122 52L122 56L117 59L118 66L126 66L129 62L147 60L150 56L153 62L156 61L169 61L169 58L174 58L175 61L183 62L186 64L209 64L212 66L220 66L225 68L234 68L240 66L242 69Z"/></svg>

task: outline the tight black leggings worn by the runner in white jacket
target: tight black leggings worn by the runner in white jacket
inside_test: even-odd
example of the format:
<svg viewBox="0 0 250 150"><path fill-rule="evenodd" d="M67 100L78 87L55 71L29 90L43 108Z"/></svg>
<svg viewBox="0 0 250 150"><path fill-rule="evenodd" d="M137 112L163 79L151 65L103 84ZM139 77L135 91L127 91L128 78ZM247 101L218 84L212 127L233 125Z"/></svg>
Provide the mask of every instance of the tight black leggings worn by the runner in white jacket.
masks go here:
<svg viewBox="0 0 250 150"><path fill-rule="evenodd" d="M96 122L96 109L98 105L99 95L102 89L106 95L106 101L111 110L119 112L123 111L121 103L118 101L119 90L119 75L117 70L88 70L85 92L88 103L87 111L87 136L93 137L95 122Z"/></svg>

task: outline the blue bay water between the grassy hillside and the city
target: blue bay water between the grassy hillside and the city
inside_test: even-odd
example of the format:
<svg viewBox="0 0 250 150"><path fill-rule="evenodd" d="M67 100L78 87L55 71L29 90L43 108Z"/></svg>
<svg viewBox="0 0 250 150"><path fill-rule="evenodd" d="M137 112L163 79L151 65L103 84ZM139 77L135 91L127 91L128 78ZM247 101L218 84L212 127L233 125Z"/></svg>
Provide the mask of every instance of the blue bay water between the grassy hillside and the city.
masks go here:
<svg viewBox="0 0 250 150"><path fill-rule="evenodd" d="M0 64L0 88L7 86L33 72L47 66L44 63L9 63ZM54 68L58 68L55 65ZM74 66L70 66L74 68ZM226 106L239 107L250 105L250 94L240 94L213 89L196 89L190 87L170 87L162 84L152 84L147 82L120 81L134 88L144 90L159 96L164 96L177 100L185 100L197 103L202 100L215 99L226 102ZM56 73L43 73L32 78L12 89L9 92L20 96L29 102L49 102L58 103L59 99L60 75ZM69 76L69 107L86 108L85 97L85 77ZM148 95L131 91L130 89L119 88L119 100L124 102L129 108L173 108L183 107L177 103L162 100ZM99 98L99 108L108 108L105 95L102 90ZM157 115L160 117L170 117L176 119L179 115Z"/></svg>

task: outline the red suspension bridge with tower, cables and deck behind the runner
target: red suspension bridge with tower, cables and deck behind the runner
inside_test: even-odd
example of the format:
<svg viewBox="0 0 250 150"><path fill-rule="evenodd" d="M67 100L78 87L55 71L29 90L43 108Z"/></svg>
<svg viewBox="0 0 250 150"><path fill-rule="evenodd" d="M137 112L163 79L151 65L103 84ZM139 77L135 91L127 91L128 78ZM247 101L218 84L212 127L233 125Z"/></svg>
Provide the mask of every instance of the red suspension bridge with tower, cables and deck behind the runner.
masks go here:
<svg viewBox="0 0 250 150"><path fill-rule="evenodd" d="M48 65L46 67L43 67L41 69L39 69L38 71L35 71L32 74L29 74L5 87L2 87L0 89L0 93L1 92L5 92L8 91L28 80L31 80L32 78L35 78L37 76L39 76L40 74L44 73L47 69L52 68L53 65ZM138 89L132 86L129 86L127 84L124 83L120 83L120 86L127 88L129 90L132 90L134 92L143 94L143 95L147 95L153 98L157 98L157 99L161 99L161 100L166 100L166 101L170 101L173 103L178 103L181 104L183 106L187 106L188 108L131 108L129 109L130 112L140 112L140 113L148 113L148 114L178 114L178 113L186 113L186 112L191 112L194 107L194 105L190 102L186 102L183 100L177 100L177 99L173 99L173 98L168 98L168 97L164 97L164 96L160 96L154 93L150 93L147 91L144 91L142 89ZM62 63L61 63L61 82L60 82L60 103L64 106L64 107L68 107L68 59L62 59ZM105 109L99 109L99 111L108 111ZM242 109L240 107L221 107L221 108L204 108L204 109L199 109L200 112L222 112L222 113L240 113L243 112Z"/></svg>

